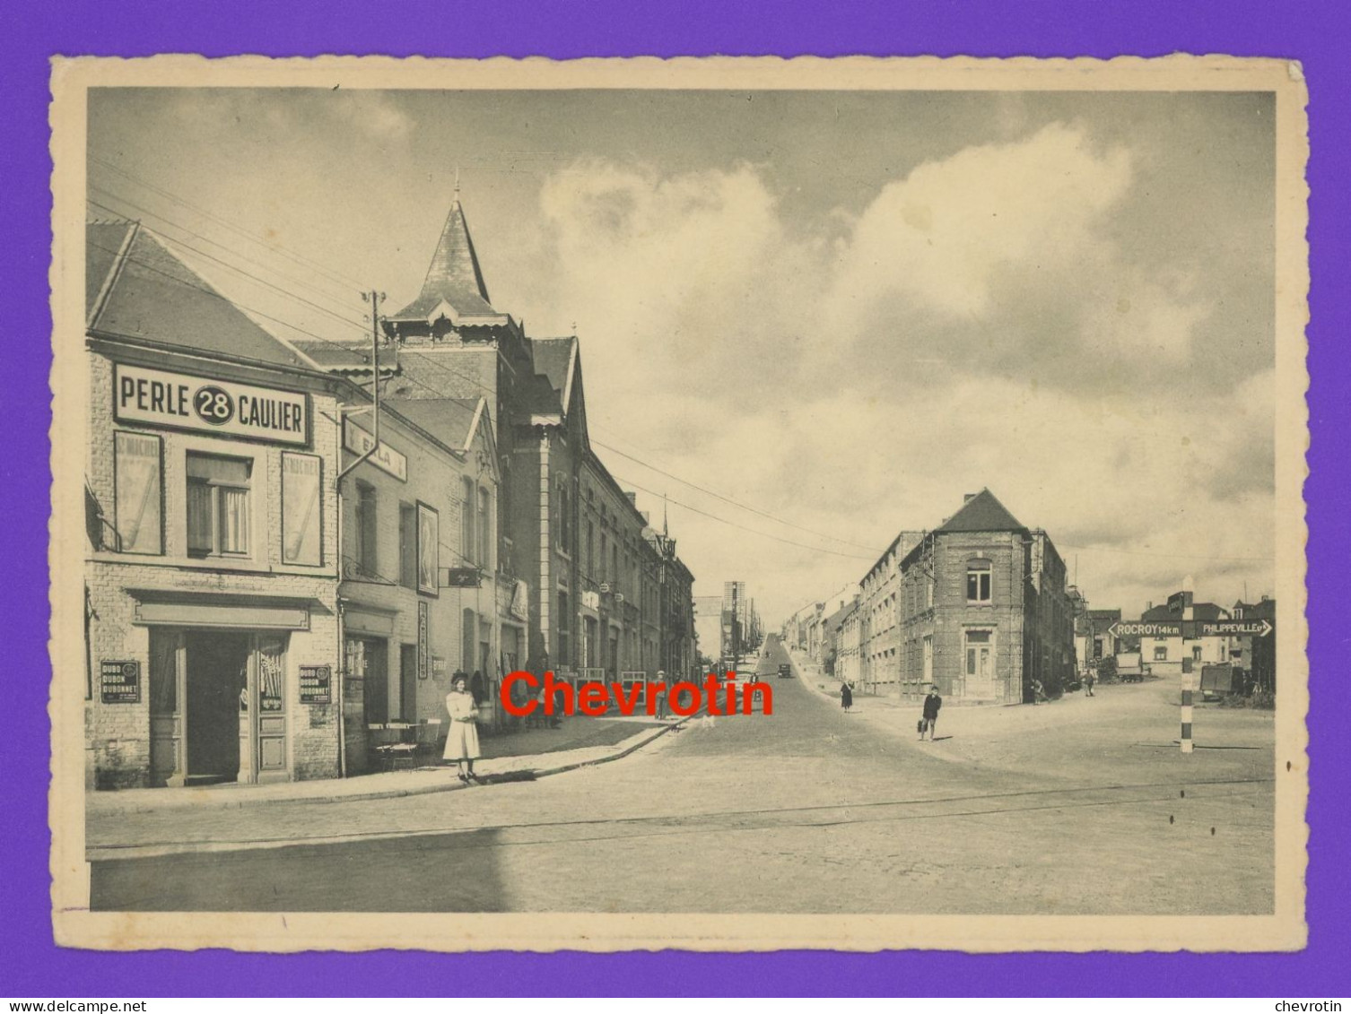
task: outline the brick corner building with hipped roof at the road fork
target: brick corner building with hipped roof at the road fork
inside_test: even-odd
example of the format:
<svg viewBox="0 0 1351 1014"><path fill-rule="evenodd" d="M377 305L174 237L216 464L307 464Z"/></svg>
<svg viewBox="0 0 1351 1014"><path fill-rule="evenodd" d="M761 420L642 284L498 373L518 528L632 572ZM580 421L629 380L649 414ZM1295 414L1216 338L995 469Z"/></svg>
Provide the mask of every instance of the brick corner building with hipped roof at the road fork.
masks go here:
<svg viewBox="0 0 1351 1014"><path fill-rule="evenodd" d="M929 685L950 703L1027 703L1074 671L1065 563L988 489L900 562L901 697Z"/></svg>

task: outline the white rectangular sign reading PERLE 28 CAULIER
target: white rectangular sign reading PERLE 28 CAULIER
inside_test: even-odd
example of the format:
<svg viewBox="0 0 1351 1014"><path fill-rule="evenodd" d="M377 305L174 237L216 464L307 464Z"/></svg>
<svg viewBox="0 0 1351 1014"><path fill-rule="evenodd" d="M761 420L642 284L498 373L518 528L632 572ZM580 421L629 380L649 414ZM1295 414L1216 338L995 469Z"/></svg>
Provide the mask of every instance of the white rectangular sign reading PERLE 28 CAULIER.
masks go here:
<svg viewBox="0 0 1351 1014"><path fill-rule="evenodd" d="M112 415L119 423L309 444L308 394L143 366L115 366Z"/></svg>

